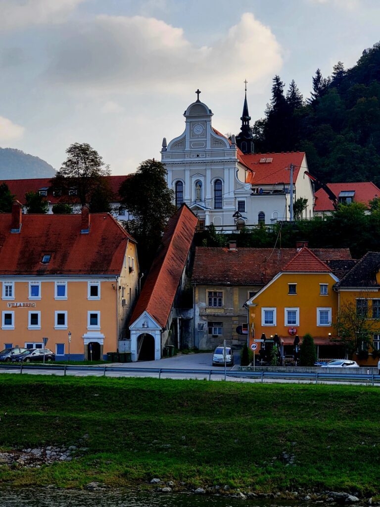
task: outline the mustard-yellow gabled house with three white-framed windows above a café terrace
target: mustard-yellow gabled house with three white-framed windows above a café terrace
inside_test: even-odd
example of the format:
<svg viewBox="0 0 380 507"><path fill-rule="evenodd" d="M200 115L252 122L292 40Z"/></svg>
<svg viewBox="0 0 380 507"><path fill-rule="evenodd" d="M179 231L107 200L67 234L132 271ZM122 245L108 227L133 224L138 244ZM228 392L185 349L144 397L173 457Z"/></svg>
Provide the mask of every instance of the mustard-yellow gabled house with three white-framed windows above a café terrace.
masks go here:
<svg viewBox="0 0 380 507"><path fill-rule="evenodd" d="M333 286L338 278L330 267L309 248L297 255L247 303L249 343L258 354L261 342L254 340L279 337L284 357L294 355L294 337L310 333L319 358L337 357L340 347L330 342L338 307Z"/></svg>

